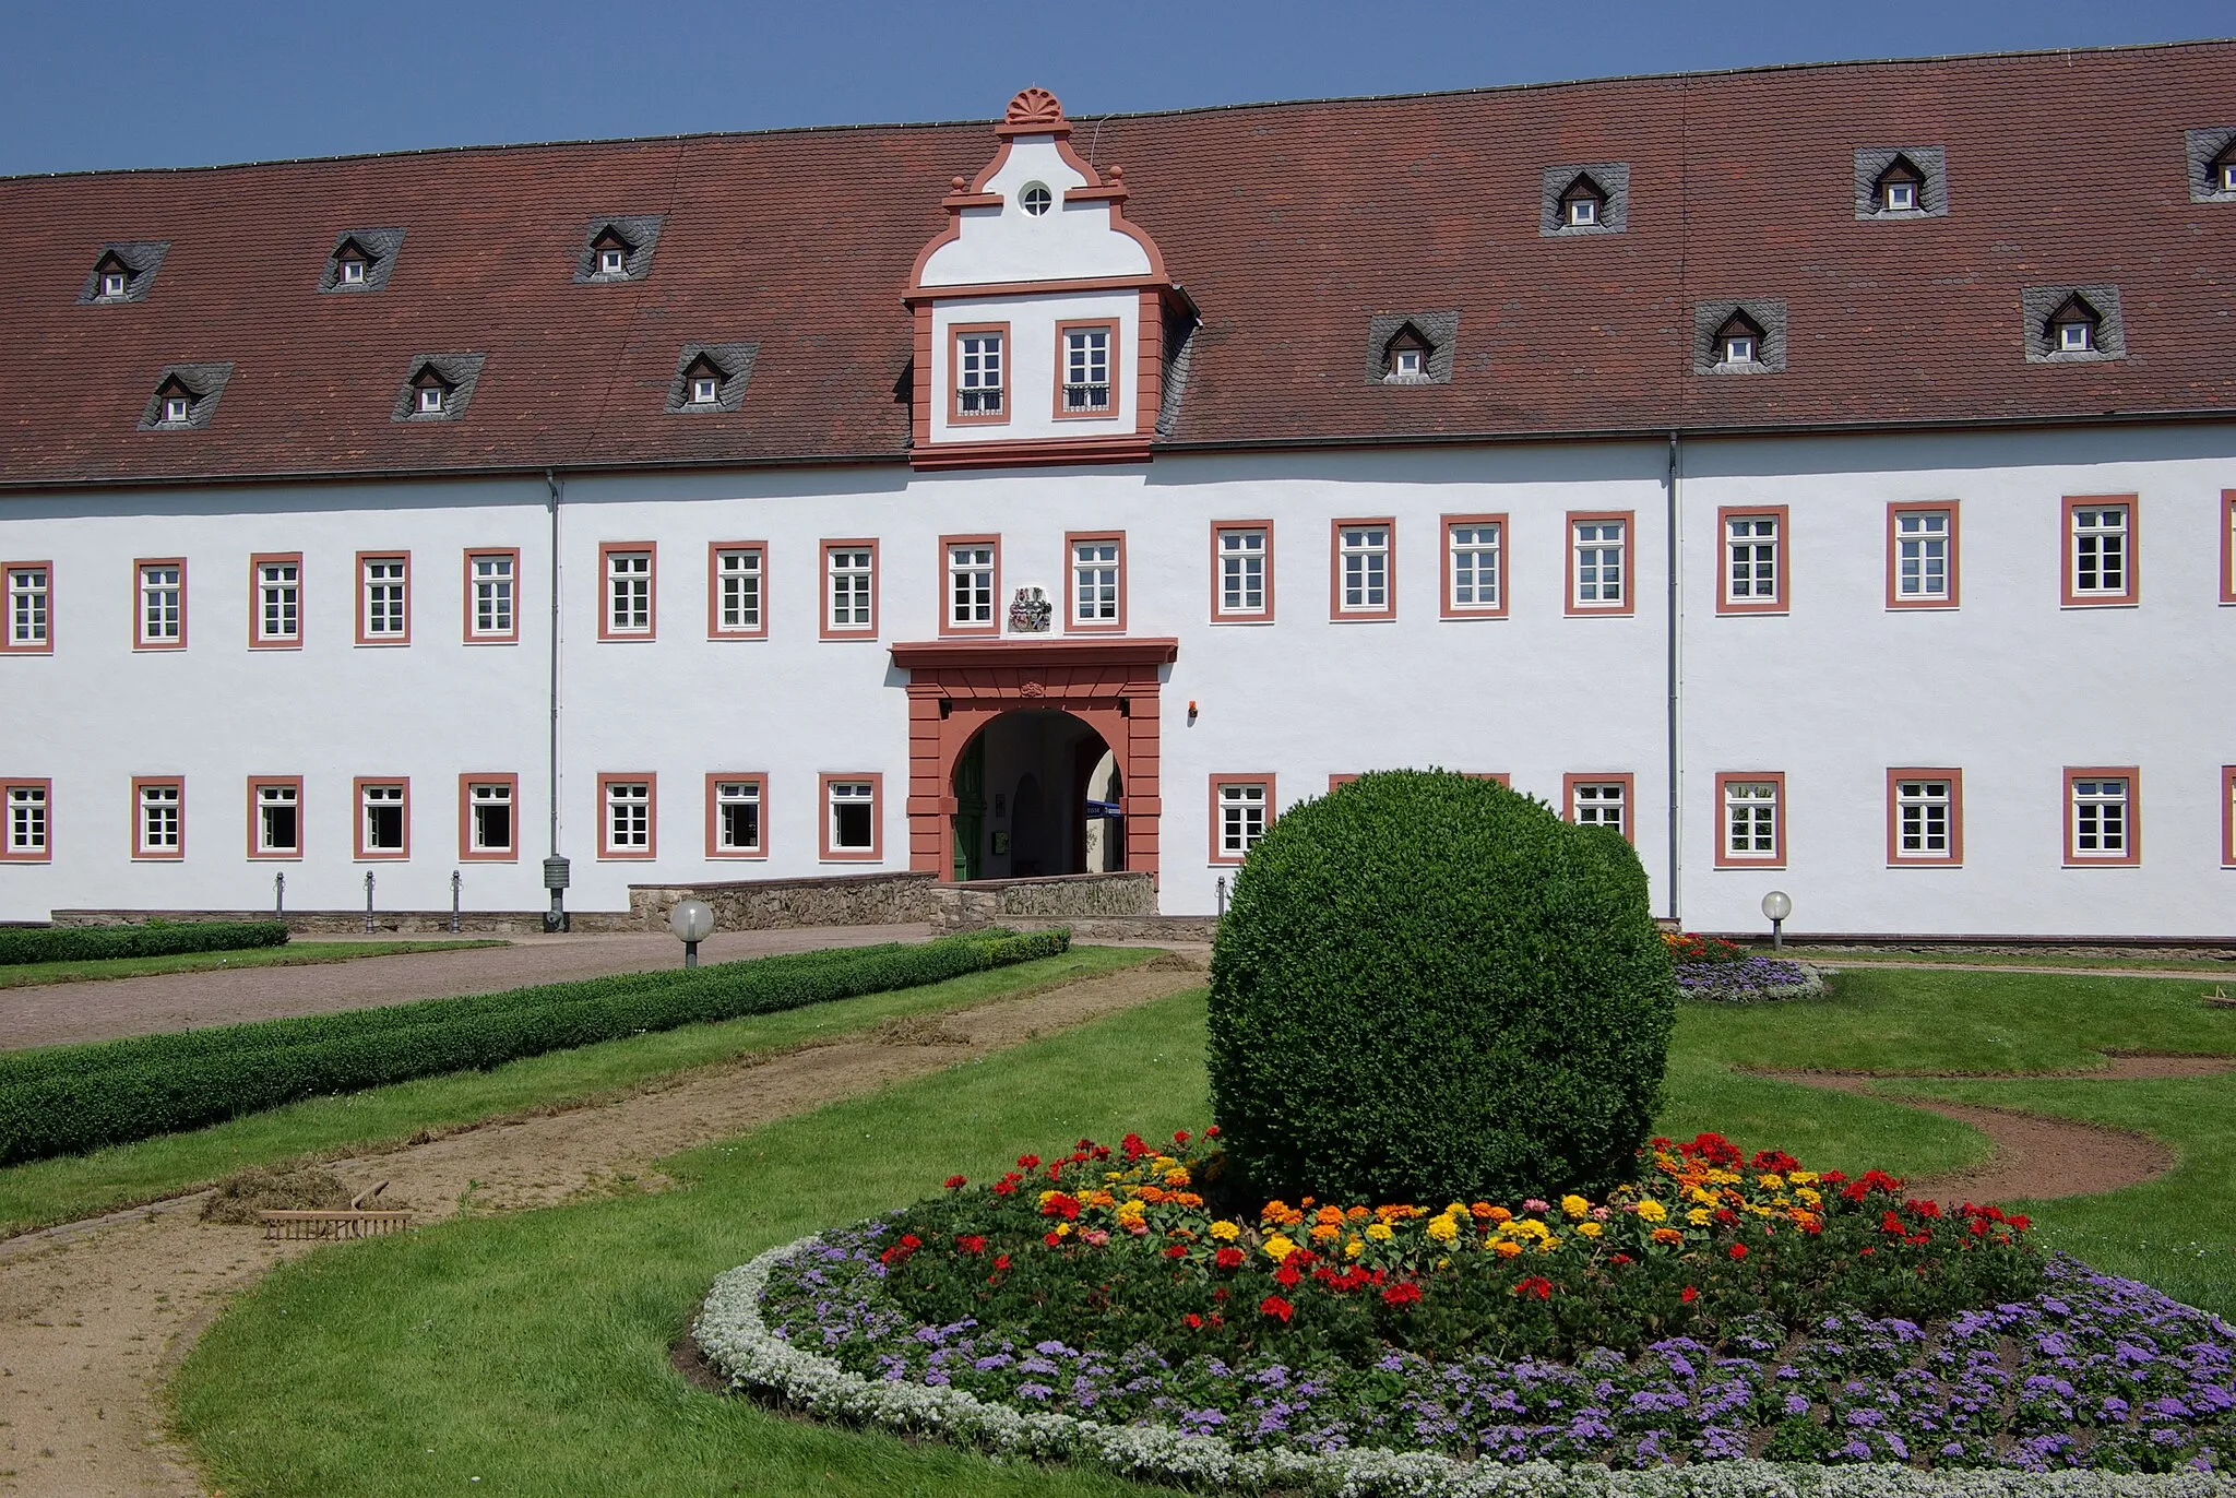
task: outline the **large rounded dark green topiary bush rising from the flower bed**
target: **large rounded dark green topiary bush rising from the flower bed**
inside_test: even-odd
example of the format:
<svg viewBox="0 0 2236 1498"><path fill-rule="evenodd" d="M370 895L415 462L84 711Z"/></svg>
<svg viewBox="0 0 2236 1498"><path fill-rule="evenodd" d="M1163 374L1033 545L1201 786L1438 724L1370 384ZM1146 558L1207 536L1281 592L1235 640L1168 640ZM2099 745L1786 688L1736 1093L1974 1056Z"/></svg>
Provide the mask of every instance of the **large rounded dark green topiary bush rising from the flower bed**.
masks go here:
<svg viewBox="0 0 2236 1498"><path fill-rule="evenodd" d="M1254 1189L1518 1201L1635 1172L1677 986L1646 870L1494 780L1377 771L1250 852L1212 1111Z"/></svg>

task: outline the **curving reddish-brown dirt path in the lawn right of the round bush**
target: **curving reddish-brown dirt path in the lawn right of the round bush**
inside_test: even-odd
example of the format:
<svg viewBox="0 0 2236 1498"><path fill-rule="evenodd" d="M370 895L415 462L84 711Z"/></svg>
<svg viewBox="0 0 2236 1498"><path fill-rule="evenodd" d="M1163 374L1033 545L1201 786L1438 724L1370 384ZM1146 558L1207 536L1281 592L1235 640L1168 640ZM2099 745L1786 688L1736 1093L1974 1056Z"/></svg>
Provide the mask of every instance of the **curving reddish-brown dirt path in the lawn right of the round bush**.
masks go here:
<svg viewBox="0 0 2236 1498"><path fill-rule="evenodd" d="M2095 1082L2149 1082L2158 1078L2209 1078L2236 1071L2229 1055L2115 1055L2102 1071L2071 1073L2073 1080ZM2046 1118L2017 1109L1979 1107L1972 1102L1941 1102L1939 1098L1905 1098L1878 1093L1872 1082L1941 1080L1941 1082L2041 1082L2057 1080L2039 1073L1995 1073L1995 1075L1876 1075L1858 1071L1762 1071L1755 1075L1800 1082L1804 1087L1827 1087L1842 1093L1865 1093L1925 1109L1970 1125L1988 1136L1995 1154L1986 1165L1914 1183L1918 1196L1943 1205L1968 1201L2019 1201L2048 1196L2095 1196L2140 1185L2173 1167L2173 1151L2158 1140L2124 1129L2075 1122L2071 1118Z"/></svg>

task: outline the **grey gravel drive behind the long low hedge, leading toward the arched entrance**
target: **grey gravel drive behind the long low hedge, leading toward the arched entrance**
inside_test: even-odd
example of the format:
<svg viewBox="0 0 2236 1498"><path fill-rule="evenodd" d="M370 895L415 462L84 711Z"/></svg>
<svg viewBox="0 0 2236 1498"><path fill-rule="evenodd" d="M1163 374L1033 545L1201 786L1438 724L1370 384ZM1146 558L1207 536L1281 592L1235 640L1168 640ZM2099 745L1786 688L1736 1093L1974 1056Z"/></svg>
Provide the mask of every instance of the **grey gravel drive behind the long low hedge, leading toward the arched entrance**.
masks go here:
<svg viewBox="0 0 2236 1498"><path fill-rule="evenodd" d="M718 932L700 944L700 961L827 946L923 941L930 926L816 926L807 930ZM512 946L458 952L402 952L300 968L157 973L94 984L49 984L0 990L0 1051L119 1035L188 1031L203 1024L322 1015L407 999L499 993L525 984L563 984L608 973L673 968L682 944L664 935L521 937Z"/></svg>

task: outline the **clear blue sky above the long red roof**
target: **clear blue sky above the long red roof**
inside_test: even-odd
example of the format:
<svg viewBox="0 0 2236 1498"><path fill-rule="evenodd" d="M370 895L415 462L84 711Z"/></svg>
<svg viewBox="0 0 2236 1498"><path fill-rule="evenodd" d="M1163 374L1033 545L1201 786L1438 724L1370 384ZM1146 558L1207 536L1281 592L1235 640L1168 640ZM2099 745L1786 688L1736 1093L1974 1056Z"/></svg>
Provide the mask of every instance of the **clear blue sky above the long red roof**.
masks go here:
<svg viewBox="0 0 2236 1498"><path fill-rule="evenodd" d="M2227 0L0 0L0 174L2227 34Z"/></svg>

